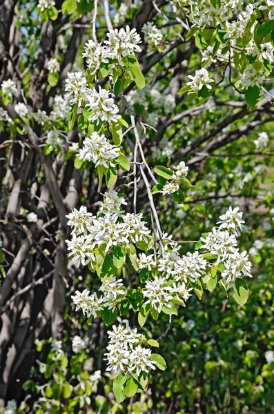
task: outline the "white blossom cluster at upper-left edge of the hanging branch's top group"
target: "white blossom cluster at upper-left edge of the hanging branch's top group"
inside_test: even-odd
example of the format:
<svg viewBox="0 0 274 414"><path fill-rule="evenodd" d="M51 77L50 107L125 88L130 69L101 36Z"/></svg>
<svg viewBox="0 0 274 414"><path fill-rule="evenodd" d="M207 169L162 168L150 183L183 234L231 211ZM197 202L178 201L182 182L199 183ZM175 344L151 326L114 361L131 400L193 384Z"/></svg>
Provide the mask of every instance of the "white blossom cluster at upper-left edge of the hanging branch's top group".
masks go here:
<svg viewBox="0 0 274 414"><path fill-rule="evenodd" d="M88 94L88 84L86 77L84 77L83 72L68 72L68 78L66 79L66 92L69 92L70 103L77 103L78 108L86 101L86 95Z"/></svg>

